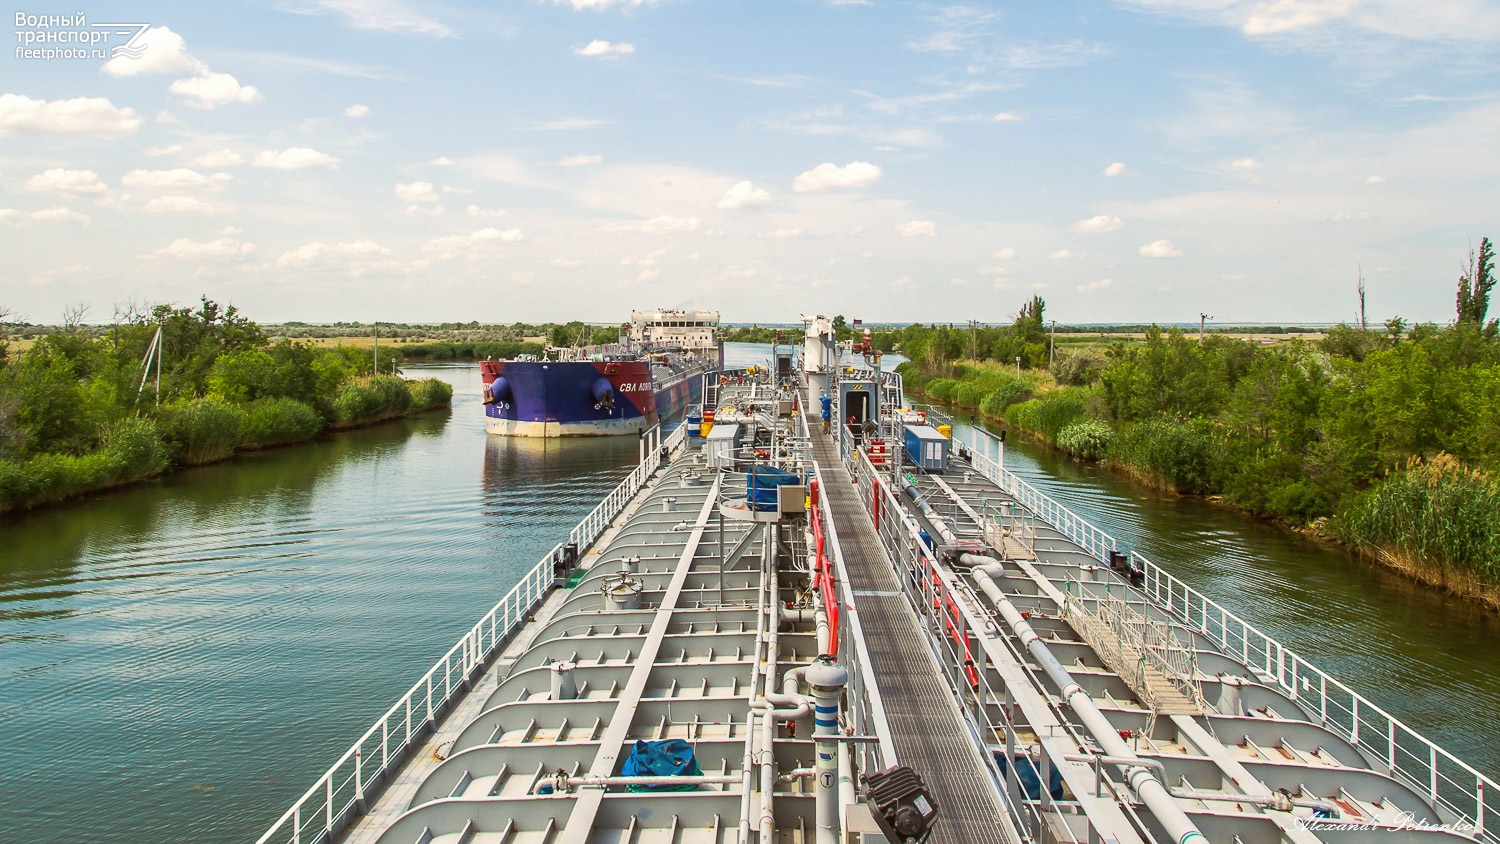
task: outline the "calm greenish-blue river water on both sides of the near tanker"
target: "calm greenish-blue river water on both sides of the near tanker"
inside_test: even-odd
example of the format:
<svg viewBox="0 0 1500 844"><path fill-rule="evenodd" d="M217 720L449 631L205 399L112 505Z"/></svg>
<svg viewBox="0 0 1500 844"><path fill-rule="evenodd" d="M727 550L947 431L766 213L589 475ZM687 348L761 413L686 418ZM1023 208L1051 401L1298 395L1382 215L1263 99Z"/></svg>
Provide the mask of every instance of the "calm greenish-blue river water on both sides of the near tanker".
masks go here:
<svg viewBox="0 0 1500 844"><path fill-rule="evenodd" d="M636 460L628 436L486 436L474 364L408 375L450 381L456 409L0 517L0 840L254 841ZM1203 502L1006 459L1500 769L1494 616Z"/></svg>

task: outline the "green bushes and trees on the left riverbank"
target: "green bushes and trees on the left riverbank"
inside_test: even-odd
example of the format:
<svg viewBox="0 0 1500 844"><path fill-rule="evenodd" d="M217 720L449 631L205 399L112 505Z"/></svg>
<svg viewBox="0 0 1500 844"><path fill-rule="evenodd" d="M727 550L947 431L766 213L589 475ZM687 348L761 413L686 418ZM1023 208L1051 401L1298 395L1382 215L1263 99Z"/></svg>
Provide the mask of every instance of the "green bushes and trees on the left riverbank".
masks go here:
<svg viewBox="0 0 1500 844"><path fill-rule="evenodd" d="M447 406L453 396L442 381L376 375L366 349L272 342L208 298L128 313L106 330L75 322L20 352L4 339L0 511ZM399 360L382 349L380 367Z"/></svg>

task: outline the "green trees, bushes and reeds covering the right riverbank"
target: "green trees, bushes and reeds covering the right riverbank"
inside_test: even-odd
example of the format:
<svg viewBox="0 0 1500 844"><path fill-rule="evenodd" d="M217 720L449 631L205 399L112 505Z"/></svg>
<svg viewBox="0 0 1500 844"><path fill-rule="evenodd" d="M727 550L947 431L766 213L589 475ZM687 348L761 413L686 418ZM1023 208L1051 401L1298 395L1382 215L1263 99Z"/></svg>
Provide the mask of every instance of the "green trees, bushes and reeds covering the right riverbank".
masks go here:
<svg viewBox="0 0 1500 844"><path fill-rule="evenodd" d="M912 325L884 340L910 358L914 393L1500 601L1492 286L1484 240L1448 325L1392 318L1275 345L1148 327L1136 343L1054 351L1034 297L1005 328Z"/></svg>

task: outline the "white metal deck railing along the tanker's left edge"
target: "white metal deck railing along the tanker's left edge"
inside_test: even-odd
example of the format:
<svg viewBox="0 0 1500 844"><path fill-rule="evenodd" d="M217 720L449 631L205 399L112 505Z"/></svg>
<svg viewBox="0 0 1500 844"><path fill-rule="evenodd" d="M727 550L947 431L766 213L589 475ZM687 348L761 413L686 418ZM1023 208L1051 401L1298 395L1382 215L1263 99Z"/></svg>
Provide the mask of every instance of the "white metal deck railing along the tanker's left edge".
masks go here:
<svg viewBox="0 0 1500 844"><path fill-rule="evenodd" d="M662 445L675 450L687 436L678 426ZM652 439L636 468L620 481L598 507L592 510L568 534L568 541L578 543L582 555L598 538L610 520L662 466L662 450ZM302 798L272 825L256 844L322 844L333 841L366 808L390 780L406 756L417 747L417 739L428 735L470 688L484 666L500 652L531 612L552 591L555 583L554 561L562 552L562 543L552 546L531 570L522 576L504 598L471 627L422 676L406 694L381 715L350 750L328 768Z"/></svg>

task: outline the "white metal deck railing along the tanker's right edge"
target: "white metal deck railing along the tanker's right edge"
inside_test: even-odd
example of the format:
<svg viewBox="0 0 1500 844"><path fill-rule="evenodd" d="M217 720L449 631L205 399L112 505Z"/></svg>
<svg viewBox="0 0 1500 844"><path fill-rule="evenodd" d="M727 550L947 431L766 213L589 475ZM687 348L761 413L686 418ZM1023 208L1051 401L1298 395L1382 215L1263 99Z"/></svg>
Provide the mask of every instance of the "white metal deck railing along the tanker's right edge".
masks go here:
<svg viewBox="0 0 1500 844"><path fill-rule="evenodd" d="M1113 537L1047 498L1014 472L1004 469L990 457L999 441L988 432L974 430L975 469L1092 556L1107 561L1107 552L1116 549ZM1155 562L1136 552L1131 552L1131 558L1132 565L1144 571L1144 592L1158 609L1215 642L1226 655L1238 658L1260 681L1275 684L1320 724L1360 748L1372 763L1383 765L1388 774L1426 795L1436 807L1448 813L1449 817L1444 820L1454 831L1482 841L1500 843L1500 832L1490 829L1492 819L1500 813L1500 786L1494 780L1287 651L1284 645L1173 577Z"/></svg>

